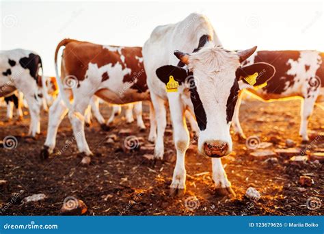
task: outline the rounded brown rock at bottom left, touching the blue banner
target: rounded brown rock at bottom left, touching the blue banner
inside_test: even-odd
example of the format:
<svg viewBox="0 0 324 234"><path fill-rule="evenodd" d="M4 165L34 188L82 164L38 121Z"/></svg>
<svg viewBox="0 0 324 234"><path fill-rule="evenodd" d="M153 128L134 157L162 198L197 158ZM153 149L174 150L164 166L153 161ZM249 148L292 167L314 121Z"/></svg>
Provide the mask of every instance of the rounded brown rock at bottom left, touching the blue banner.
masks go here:
<svg viewBox="0 0 324 234"><path fill-rule="evenodd" d="M83 200L67 197L64 199L62 208L59 213L64 216L80 216L87 212L87 206L83 203Z"/></svg>

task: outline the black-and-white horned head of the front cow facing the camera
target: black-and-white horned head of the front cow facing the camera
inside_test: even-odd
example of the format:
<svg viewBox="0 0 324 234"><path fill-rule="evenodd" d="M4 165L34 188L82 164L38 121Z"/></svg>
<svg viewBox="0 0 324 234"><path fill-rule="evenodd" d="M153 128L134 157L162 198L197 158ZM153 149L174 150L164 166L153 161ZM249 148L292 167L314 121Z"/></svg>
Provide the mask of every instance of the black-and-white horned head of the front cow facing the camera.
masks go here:
<svg viewBox="0 0 324 234"><path fill-rule="evenodd" d="M162 66L156 73L167 84L170 76L179 86L189 87L195 117L200 128L198 151L209 157L223 157L232 151L230 122L241 84L260 86L275 73L270 64L242 67L241 62L256 51L226 51L209 42L195 53L174 51L180 66ZM180 90L180 89L179 89Z"/></svg>

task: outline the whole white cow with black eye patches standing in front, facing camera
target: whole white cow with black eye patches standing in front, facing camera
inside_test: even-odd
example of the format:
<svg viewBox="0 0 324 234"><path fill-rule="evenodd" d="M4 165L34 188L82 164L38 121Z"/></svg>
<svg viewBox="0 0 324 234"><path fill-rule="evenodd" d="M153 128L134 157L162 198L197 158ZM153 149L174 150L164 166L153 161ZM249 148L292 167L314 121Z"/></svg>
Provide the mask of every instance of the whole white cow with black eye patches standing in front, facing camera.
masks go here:
<svg viewBox="0 0 324 234"><path fill-rule="evenodd" d="M208 18L196 13L178 23L156 27L145 42L144 68L157 120L156 159L162 159L164 153L165 101L170 106L176 147L171 194L185 192L185 153L189 146L186 109L198 122L199 153L212 157L216 192L234 194L221 157L232 151L230 122L239 87L251 77L256 82L249 82L259 86L274 73L273 66L265 63L240 66L255 50L226 51Z"/></svg>

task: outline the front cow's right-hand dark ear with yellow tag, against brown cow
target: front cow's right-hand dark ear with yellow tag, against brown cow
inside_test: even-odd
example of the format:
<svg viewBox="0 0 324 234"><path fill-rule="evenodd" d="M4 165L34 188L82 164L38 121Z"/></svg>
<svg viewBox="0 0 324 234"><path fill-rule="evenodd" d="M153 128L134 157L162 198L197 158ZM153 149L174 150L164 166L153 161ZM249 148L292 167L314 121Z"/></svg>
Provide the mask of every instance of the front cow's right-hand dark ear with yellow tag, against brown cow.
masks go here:
<svg viewBox="0 0 324 234"><path fill-rule="evenodd" d="M275 68L271 64L258 62L237 69L237 79L250 86L266 86L267 81L275 75Z"/></svg>

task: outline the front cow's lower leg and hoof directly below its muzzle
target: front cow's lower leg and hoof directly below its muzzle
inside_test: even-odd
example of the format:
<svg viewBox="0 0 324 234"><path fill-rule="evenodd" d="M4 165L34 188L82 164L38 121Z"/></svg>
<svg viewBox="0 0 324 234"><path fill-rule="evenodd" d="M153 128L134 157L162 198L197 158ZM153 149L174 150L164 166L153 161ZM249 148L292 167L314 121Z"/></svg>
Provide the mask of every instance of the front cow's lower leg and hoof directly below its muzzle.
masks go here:
<svg viewBox="0 0 324 234"><path fill-rule="evenodd" d="M213 169L213 181L215 183L215 192L219 195L232 194L235 196L232 190L230 181L227 179L226 172L221 164L220 158L211 159Z"/></svg>

